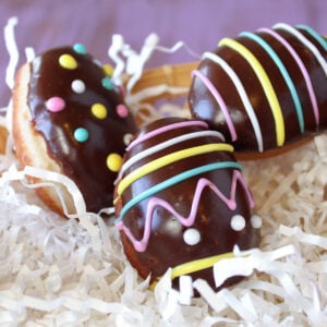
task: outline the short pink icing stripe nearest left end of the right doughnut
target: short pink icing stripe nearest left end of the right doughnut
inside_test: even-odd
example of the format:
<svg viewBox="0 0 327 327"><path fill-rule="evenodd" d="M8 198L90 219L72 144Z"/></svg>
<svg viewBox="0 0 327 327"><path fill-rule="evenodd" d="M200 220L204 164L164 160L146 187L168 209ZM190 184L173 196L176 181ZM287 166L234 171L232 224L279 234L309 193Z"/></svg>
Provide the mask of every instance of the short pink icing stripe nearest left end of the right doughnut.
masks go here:
<svg viewBox="0 0 327 327"><path fill-rule="evenodd" d="M205 76L201 71L193 71L192 76L194 76L194 75L197 76L205 84L205 86L209 89L209 92L211 93L211 95L214 96L214 98L216 99L218 105L220 106L220 109L221 109L221 111L225 116L225 119L226 119L231 138L232 138L232 141L237 141L238 140L238 134L237 134L237 131L235 131L235 126L233 124L231 116L228 111L228 108L227 108L220 93L214 86L211 81L207 76Z"/></svg>

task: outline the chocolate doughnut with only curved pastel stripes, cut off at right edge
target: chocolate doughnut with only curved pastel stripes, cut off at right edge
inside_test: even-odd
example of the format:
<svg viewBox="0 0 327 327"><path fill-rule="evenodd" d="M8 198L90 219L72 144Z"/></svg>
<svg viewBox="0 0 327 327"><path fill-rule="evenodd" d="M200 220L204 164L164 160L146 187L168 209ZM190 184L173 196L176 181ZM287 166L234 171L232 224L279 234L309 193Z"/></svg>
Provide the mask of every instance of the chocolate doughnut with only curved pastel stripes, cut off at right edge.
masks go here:
<svg viewBox="0 0 327 327"><path fill-rule="evenodd" d="M192 72L191 114L235 150L280 148L327 128L327 41L279 23L222 38Z"/></svg>

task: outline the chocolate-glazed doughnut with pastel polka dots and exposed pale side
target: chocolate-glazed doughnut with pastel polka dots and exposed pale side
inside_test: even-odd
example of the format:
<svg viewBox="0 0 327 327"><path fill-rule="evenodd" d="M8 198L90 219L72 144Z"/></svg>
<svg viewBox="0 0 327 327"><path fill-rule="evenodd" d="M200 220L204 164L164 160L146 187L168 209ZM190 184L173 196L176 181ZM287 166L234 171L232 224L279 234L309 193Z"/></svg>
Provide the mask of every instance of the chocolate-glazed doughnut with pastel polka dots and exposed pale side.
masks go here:
<svg viewBox="0 0 327 327"><path fill-rule="evenodd" d="M13 137L22 166L69 177L87 210L112 206L113 181L124 148L136 132L123 93L82 44L50 49L23 64L13 89ZM39 180L33 182L39 182ZM37 187L53 210L53 187ZM61 190L70 210L73 204Z"/></svg>

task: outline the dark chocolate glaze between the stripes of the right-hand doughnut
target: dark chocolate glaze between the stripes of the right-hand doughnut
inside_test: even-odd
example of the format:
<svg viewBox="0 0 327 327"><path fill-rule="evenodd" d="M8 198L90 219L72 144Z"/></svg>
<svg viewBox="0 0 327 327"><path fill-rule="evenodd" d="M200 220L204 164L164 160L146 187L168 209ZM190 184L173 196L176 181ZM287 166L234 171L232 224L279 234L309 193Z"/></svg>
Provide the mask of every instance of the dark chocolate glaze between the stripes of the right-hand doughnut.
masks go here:
<svg viewBox="0 0 327 327"><path fill-rule="evenodd" d="M301 41L298 36L292 34L288 29L289 27L284 26L286 24L276 25L272 33L278 34L279 37L282 37L283 40L289 44L304 65L304 70L307 72L310 80L308 83L312 84L313 96L316 98L319 121L317 123L315 120L313 104L303 70L301 70L294 56L289 51L289 48L280 41L280 39L276 38L274 34L271 35L267 28L254 33L262 38L264 43L270 46L275 55L277 55L284 65L294 85L303 110L304 129L302 130L296 116L295 102L278 64L258 41L246 36L246 34L244 35L244 33L240 34L234 40L250 50L256 60L258 60L275 89L284 122L283 143L277 145L276 122L274 120L272 110L265 96L263 85L254 72L253 65L231 47L222 44L218 46L213 53L226 61L240 78L257 118L263 136L263 148L258 148L257 137L251 118L246 113L244 101L241 99L240 92L230 74L222 69L221 64L204 56L198 66L198 72L206 76L220 93L237 131L237 140L232 140L231 137L226 116L221 112L221 106L218 105L213 93L198 76L193 78L189 93L189 104L192 116L206 121L211 129L220 131L228 142L233 143L235 150L262 152L271 149L327 128L327 73L326 71L324 72L313 50ZM308 29L301 27L294 29L316 48L326 64L326 39L320 37L319 43Z"/></svg>

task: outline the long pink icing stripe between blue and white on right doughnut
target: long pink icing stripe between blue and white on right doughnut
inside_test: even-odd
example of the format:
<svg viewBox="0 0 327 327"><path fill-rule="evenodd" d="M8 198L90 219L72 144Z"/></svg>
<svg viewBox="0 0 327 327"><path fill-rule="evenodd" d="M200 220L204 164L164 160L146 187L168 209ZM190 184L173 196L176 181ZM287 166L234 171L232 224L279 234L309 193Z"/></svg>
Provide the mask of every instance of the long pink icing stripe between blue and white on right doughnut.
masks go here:
<svg viewBox="0 0 327 327"><path fill-rule="evenodd" d="M301 60L301 58L299 57L296 51L292 48L292 46L275 31L269 29L269 28L259 28L258 32L267 33L267 34L271 35L272 37L275 37L277 40L279 40L288 49L288 51L291 53L293 59L296 61L301 72L302 72L302 75L304 77L305 85L308 90L311 104L313 107L316 125L318 126L319 125L319 109L318 109L317 98L316 98L316 95L315 95L315 92L314 92L314 88L313 88L313 85L312 85L312 82L310 78L310 74L308 74L305 65L303 64L303 61Z"/></svg>

